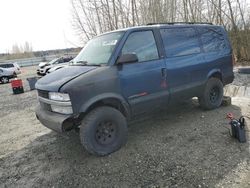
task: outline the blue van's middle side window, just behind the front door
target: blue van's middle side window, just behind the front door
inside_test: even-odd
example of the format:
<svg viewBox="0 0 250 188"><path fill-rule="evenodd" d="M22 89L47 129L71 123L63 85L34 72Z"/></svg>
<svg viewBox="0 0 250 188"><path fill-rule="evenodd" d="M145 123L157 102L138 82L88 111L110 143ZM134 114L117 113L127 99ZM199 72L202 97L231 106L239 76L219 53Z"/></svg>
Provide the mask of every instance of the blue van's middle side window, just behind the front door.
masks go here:
<svg viewBox="0 0 250 188"><path fill-rule="evenodd" d="M199 39L193 28L161 29L167 57L200 53Z"/></svg>

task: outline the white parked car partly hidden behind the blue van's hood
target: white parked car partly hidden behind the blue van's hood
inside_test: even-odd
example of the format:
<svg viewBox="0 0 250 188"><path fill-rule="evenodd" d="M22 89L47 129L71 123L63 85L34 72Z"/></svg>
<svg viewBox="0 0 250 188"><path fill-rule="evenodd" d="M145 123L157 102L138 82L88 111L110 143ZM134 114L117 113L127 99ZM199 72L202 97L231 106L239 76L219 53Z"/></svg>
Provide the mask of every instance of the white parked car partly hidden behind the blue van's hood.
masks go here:
<svg viewBox="0 0 250 188"><path fill-rule="evenodd" d="M45 64L41 63L39 64L39 68L37 69L37 74L44 76L48 73L48 70L51 69L53 66L69 62L72 59L73 59L72 57L60 57L60 58L53 59L52 61L45 63Z"/></svg>

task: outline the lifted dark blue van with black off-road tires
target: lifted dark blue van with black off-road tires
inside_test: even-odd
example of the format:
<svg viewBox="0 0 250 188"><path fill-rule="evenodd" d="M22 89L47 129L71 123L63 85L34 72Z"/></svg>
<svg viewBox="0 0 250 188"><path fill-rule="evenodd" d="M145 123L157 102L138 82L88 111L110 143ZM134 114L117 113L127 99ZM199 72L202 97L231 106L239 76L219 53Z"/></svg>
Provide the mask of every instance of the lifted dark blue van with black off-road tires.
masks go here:
<svg viewBox="0 0 250 188"><path fill-rule="evenodd" d="M118 150L131 117L198 97L218 108L233 81L227 34L211 24L152 24L90 40L70 66L41 78L36 116L46 127L80 128L85 149Z"/></svg>

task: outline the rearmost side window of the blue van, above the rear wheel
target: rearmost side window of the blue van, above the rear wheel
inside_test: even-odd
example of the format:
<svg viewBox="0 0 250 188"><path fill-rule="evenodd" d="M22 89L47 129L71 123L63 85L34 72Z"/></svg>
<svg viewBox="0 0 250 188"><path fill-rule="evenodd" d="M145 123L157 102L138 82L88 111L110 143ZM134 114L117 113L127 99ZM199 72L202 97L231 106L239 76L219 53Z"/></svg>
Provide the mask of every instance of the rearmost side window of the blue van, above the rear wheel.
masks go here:
<svg viewBox="0 0 250 188"><path fill-rule="evenodd" d="M220 28L198 29L205 52L222 51L227 48L225 37Z"/></svg>

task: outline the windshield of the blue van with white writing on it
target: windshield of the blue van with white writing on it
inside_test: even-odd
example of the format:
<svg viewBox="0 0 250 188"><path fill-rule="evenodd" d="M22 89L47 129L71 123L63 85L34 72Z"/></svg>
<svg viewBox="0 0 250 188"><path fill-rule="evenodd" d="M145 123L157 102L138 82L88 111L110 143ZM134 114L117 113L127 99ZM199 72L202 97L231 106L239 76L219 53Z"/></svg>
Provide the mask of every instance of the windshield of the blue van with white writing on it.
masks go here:
<svg viewBox="0 0 250 188"><path fill-rule="evenodd" d="M107 64L116 44L121 39L123 34L124 32L109 33L90 40L82 51L75 57L73 64Z"/></svg>

